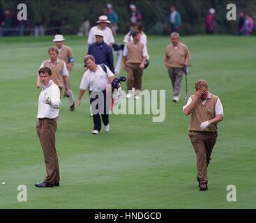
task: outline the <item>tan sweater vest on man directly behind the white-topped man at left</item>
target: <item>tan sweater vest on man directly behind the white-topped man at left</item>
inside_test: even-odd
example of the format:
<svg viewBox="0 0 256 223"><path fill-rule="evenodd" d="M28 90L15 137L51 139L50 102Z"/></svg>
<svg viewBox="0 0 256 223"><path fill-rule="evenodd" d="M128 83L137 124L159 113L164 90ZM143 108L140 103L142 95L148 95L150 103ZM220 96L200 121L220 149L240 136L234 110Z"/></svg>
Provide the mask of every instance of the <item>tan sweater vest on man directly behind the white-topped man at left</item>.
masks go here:
<svg viewBox="0 0 256 223"><path fill-rule="evenodd" d="M55 66L52 66L52 63L47 59L46 61L43 61L43 64L45 67L50 68L52 70L52 80L54 84L57 84L57 86L63 88L64 81L63 81L63 66L64 66L64 61L61 61L59 59L59 63L55 63Z"/></svg>

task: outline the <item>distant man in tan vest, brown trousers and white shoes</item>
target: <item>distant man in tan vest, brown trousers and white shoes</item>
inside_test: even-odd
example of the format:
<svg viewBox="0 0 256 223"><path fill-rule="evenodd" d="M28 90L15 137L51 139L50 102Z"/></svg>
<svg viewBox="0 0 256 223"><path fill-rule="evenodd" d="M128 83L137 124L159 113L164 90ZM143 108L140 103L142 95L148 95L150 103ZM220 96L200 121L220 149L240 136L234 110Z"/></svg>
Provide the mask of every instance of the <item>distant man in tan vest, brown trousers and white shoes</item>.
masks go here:
<svg viewBox="0 0 256 223"><path fill-rule="evenodd" d="M128 42L123 49L123 70L128 72L126 98L132 96L132 88L135 88L135 99L140 99L142 89L142 74L148 55L146 45L140 42L140 31L133 31L133 40ZM137 91L139 90L139 91Z"/></svg>

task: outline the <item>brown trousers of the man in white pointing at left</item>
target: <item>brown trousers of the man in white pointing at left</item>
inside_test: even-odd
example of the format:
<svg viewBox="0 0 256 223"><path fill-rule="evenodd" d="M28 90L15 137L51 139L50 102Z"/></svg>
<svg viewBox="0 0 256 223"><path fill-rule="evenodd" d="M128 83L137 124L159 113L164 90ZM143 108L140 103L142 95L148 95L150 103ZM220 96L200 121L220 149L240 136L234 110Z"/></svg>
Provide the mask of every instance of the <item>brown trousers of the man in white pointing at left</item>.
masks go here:
<svg viewBox="0 0 256 223"><path fill-rule="evenodd" d="M59 183L59 162L55 148L55 133L57 130L56 118L42 118L36 124L40 144L45 157L45 167L47 176L45 183Z"/></svg>

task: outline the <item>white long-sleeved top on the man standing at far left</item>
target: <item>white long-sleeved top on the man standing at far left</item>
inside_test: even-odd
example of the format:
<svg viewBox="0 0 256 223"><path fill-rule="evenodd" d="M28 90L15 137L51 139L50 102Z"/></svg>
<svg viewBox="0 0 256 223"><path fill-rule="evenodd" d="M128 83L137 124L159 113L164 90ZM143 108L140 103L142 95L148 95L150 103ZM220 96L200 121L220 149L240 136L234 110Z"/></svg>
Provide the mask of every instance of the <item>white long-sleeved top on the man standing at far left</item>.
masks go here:
<svg viewBox="0 0 256 223"><path fill-rule="evenodd" d="M56 118L59 116L59 107L61 106L61 92L59 87L50 80L50 86L43 86L38 98L38 114L37 118ZM43 103L43 100L49 98L51 105Z"/></svg>

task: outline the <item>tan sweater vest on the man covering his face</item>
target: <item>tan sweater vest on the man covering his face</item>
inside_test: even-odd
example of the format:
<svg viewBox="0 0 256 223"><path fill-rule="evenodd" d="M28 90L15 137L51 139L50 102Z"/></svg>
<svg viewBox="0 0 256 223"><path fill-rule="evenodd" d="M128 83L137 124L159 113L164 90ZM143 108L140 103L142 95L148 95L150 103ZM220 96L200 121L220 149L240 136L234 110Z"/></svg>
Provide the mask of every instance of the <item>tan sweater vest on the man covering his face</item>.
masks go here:
<svg viewBox="0 0 256 223"><path fill-rule="evenodd" d="M192 96L193 98L193 96ZM203 105L201 100L197 100L195 107L190 117L189 130L201 132L200 125L202 122L215 118L215 107L218 96L211 94L211 98L207 98L206 103ZM217 132L217 123L210 124L204 131Z"/></svg>

